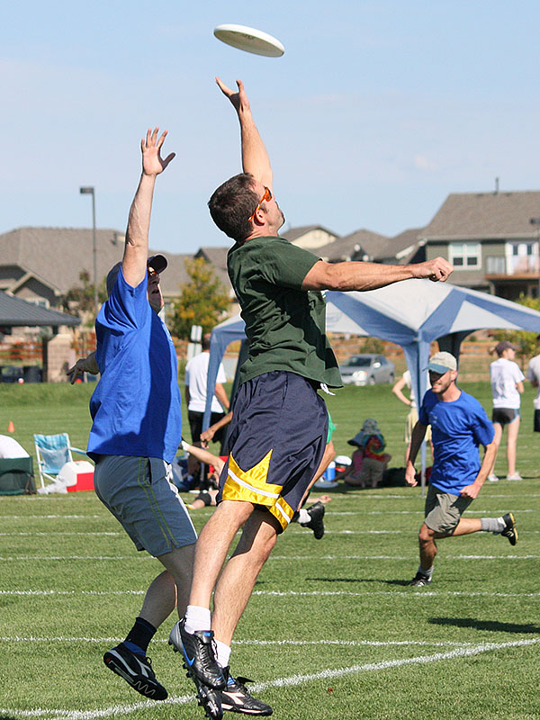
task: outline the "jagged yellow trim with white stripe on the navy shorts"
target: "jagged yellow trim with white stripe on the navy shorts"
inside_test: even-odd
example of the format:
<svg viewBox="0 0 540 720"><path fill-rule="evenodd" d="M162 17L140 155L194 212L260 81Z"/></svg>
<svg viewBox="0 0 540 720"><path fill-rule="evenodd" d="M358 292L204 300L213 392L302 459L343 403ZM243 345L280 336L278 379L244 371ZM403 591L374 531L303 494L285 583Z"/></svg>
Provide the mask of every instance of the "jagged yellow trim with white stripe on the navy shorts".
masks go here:
<svg viewBox="0 0 540 720"><path fill-rule="evenodd" d="M229 473L223 485L223 500L243 500L255 505L266 505L271 508L280 500L282 485L271 485L266 482L272 450L250 470L244 472L234 457L229 456Z"/></svg>

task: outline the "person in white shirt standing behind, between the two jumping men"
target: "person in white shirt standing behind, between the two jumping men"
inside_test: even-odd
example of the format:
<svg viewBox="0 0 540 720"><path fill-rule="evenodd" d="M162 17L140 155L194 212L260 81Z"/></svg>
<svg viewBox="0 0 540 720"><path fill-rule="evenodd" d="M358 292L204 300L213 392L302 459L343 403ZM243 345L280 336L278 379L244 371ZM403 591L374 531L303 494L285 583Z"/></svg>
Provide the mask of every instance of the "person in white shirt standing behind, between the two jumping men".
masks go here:
<svg viewBox="0 0 540 720"><path fill-rule="evenodd" d="M208 383L208 365L210 363L210 333L202 337L202 353L192 357L185 365L185 401L187 403L187 417L192 433L193 445L201 445L202 418L206 408L206 386ZM225 370L220 363L218 377L211 400L211 425L222 419L229 412L229 398L223 387L227 381ZM215 441L222 439L223 429L216 433Z"/></svg>

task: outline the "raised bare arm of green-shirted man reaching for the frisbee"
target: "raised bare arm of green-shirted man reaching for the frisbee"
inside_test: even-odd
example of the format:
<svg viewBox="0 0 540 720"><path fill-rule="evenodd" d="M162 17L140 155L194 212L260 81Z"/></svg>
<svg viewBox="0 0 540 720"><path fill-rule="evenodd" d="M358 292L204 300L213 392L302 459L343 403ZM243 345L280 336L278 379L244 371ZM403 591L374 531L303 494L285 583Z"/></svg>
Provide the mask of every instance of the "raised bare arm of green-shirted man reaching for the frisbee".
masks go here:
<svg viewBox="0 0 540 720"><path fill-rule="evenodd" d="M266 187L272 190L274 175L272 173L272 166L270 165L270 157L268 157L265 143L259 135L257 125L251 114L244 84L241 80L237 80L238 93L235 93L227 87L219 77L216 77L216 82L220 86L221 92L229 98L234 109L238 112L242 148L242 169L245 173L253 175L259 183L266 185Z"/></svg>

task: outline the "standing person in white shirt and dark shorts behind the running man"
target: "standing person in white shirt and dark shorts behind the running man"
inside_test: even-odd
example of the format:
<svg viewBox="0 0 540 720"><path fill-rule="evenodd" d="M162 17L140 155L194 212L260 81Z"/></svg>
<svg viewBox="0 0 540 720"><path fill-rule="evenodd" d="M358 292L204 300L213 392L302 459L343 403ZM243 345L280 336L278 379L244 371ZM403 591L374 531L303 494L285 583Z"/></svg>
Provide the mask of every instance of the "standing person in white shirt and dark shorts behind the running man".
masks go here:
<svg viewBox="0 0 540 720"><path fill-rule="evenodd" d="M525 375L519 369L518 363L514 362L518 347L512 345L508 340L503 340L495 347L499 356L498 360L491 363L491 392L493 394L493 414L491 421L495 428L494 443L499 449L502 433L508 426L507 433L507 480L523 480L516 470L516 446L519 432L519 406L521 404L521 393L523 392L523 381ZM491 465L488 480L498 482L499 478L494 472L495 460Z"/></svg>

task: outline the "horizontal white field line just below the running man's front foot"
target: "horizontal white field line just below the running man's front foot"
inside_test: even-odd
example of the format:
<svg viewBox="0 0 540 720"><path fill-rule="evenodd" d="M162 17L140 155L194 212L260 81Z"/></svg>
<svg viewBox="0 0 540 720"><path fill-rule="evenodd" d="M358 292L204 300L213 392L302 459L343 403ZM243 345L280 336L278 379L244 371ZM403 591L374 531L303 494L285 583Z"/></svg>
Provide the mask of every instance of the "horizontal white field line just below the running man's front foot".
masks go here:
<svg viewBox="0 0 540 720"><path fill-rule="evenodd" d="M0 590L0 597L50 597L50 596L68 596L74 598L81 597L106 597L119 595L145 595L146 590ZM365 592L356 592L354 590L254 590L253 596L271 596L271 597L327 597L342 596L364 598L370 596L404 596L406 598L539 598L540 592L488 592L483 590L467 591L467 590L366 590Z"/></svg>

